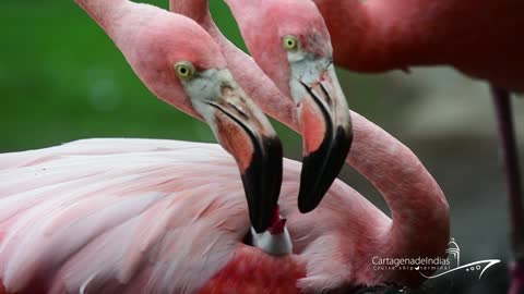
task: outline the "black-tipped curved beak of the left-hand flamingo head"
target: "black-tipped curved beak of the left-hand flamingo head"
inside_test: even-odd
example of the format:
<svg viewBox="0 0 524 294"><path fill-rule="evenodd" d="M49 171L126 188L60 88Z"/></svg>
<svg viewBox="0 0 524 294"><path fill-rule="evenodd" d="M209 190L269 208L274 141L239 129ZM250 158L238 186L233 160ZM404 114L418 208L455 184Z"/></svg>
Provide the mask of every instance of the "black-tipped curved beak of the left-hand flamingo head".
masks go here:
<svg viewBox="0 0 524 294"><path fill-rule="evenodd" d="M226 70L223 70L226 71ZM217 97L204 100L201 113L240 169L253 229L264 232L276 211L282 185L282 144L267 118L229 72L217 74ZM207 108L202 111L202 108Z"/></svg>

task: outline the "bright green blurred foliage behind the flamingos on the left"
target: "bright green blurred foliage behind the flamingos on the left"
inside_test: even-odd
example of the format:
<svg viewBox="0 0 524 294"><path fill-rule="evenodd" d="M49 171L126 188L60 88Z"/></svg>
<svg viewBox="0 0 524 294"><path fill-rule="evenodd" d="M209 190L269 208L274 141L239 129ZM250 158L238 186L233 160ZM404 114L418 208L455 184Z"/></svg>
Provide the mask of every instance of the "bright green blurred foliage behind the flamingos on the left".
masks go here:
<svg viewBox="0 0 524 294"><path fill-rule="evenodd" d="M225 3L210 1L210 9L223 33L246 50ZM88 137L215 142L207 125L156 99L73 1L4 1L0 27L0 151ZM353 93L367 91L360 82ZM365 113L372 101L364 103ZM296 134L274 125L288 156L300 150Z"/></svg>

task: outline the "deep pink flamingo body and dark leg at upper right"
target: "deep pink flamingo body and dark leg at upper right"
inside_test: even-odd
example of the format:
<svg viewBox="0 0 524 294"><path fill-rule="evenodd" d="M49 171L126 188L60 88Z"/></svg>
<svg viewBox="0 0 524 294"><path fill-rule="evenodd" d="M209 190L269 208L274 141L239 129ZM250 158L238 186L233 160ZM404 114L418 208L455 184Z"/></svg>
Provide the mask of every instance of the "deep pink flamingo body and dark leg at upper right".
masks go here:
<svg viewBox="0 0 524 294"><path fill-rule="evenodd" d="M360 72L451 65L486 79L499 124L513 256L524 256L524 205L510 93L524 91L524 2L313 0L332 36L335 62ZM496 17L496 19L493 19ZM515 285L524 292L524 261ZM516 282L520 280L521 282Z"/></svg>

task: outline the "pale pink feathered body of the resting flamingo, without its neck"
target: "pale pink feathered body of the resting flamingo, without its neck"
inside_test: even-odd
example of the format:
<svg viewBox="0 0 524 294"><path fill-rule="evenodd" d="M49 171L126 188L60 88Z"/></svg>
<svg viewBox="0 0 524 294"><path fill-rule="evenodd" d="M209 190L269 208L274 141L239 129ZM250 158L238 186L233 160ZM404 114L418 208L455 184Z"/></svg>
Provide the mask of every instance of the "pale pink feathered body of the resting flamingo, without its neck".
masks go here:
<svg viewBox="0 0 524 294"><path fill-rule="evenodd" d="M275 257L242 243L242 183L217 145L88 139L1 155L4 292L319 293L388 281L370 260L391 256L392 221L341 181L314 218L300 213L300 168L285 160L294 254Z"/></svg>

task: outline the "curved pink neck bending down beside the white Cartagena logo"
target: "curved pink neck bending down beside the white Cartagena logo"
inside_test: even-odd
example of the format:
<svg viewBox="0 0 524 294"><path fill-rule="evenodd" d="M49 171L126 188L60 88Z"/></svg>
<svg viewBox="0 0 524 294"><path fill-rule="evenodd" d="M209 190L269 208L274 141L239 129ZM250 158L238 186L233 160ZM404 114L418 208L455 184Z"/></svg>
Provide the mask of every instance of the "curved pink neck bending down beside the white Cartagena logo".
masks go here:
<svg viewBox="0 0 524 294"><path fill-rule="evenodd" d="M346 162L381 193L393 222L378 243L390 258L442 257L450 237L448 201L415 154L384 130L352 112L354 143ZM398 277L395 277L398 274ZM420 274L392 272L401 281L420 281Z"/></svg>

